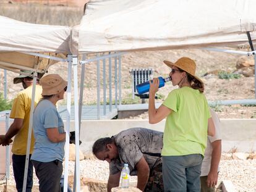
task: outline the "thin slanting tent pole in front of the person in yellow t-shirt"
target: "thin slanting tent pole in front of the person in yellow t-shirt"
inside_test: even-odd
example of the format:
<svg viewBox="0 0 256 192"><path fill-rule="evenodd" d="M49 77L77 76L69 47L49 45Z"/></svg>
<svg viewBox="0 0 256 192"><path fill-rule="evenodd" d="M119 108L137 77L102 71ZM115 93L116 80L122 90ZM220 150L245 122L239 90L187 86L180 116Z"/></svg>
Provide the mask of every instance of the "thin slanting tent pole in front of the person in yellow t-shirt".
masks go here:
<svg viewBox="0 0 256 192"><path fill-rule="evenodd" d="M36 66L36 69L38 65ZM33 125L33 111L35 108L35 88L36 88L36 78L37 72L33 73L33 89L32 89L32 98L31 98L31 106L30 106L30 117L29 117L29 127L28 127L28 140L27 140L27 152L26 152L26 162L25 162L25 170L23 177L23 188L22 192L26 191L27 188L27 176L28 176L28 161L30 155L30 144L31 144L31 134L32 134L32 125Z"/></svg>

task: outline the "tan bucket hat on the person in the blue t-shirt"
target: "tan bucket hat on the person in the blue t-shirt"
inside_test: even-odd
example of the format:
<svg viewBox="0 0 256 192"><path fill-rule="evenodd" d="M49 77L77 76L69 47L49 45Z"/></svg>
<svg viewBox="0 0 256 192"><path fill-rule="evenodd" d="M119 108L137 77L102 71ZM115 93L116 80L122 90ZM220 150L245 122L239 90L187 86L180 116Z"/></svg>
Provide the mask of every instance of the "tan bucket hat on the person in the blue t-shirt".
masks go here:
<svg viewBox="0 0 256 192"><path fill-rule="evenodd" d="M65 81L58 74L50 74L41 78L40 85L43 88L42 96L48 96L52 94L58 94L67 86Z"/></svg>

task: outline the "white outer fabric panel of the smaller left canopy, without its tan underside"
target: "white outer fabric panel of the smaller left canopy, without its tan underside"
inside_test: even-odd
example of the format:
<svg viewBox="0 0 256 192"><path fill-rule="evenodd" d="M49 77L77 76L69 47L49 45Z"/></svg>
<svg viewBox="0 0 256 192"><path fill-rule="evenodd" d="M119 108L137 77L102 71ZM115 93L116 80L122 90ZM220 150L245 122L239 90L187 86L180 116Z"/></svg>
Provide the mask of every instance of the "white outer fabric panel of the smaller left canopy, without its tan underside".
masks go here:
<svg viewBox="0 0 256 192"><path fill-rule="evenodd" d="M0 51L70 52L70 28L20 22L0 16Z"/></svg>

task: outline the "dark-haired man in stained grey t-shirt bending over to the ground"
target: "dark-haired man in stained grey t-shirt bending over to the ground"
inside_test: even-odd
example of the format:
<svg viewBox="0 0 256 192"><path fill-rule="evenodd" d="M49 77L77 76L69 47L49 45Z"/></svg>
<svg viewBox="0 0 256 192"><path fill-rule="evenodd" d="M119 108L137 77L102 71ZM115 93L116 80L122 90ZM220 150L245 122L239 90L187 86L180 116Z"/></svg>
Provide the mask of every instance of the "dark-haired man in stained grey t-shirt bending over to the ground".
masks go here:
<svg viewBox="0 0 256 192"><path fill-rule="evenodd" d="M93 144L93 154L109 162L108 192L119 186L122 167L129 164L130 175L137 175L142 191L164 191L161 149L163 133L147 128L130 128Z"/></svg>

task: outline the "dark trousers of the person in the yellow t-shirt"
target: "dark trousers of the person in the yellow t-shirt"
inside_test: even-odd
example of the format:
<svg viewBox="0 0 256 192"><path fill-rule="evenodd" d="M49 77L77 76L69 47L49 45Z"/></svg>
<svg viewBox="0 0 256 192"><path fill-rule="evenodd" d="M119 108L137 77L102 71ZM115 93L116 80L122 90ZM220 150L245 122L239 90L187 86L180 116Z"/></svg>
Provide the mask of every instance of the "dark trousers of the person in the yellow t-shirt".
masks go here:
<svg viewBox="0 0 256 192"><path fill-rule="evenodd" d="M33 164L30 160L31 154L29 156L28 162L28 177L27 177L27 188L26 192L32 191L33 186ZM25 170L25 162L26 156L19 156L19 155L12 155L12 167L14 169L14 178L16 183L16 189L18 192L22 191L23 187L23 177L24 177L24 170Z"/></svg>

